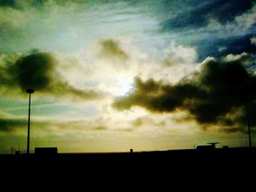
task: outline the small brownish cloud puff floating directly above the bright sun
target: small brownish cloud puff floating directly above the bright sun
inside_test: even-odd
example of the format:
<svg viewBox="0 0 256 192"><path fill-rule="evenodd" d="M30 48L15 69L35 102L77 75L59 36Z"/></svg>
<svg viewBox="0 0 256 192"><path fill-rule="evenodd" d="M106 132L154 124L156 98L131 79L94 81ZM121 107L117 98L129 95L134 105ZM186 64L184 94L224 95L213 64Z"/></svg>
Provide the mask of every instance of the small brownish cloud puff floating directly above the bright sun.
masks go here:
<svg viewBox="0 0 256 192"><path fill-rule="evenodd" d="M100 55L106 58L118 58L121 60L127 60L129 56L122 50L119 42L114 39L105 39L99 42L102 46Z"/></svg>

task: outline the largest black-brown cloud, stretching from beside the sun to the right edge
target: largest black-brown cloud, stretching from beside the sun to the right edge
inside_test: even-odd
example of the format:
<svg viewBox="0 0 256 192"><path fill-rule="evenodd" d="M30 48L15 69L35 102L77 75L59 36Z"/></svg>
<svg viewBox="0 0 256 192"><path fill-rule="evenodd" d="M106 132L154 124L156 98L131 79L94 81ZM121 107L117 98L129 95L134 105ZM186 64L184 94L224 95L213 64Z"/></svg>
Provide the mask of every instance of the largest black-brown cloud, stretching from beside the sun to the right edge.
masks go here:
<svg viewBox="0 0 256 192"><path fill-rule="evenodd" d="M151 112L187 110L202 125L241 126L246 123L246 101L256 115L256 106L252 103L256 100L256 75L244 68L244 61L249 60L244 57L230 61L208 58L201 64L199 72L184 77L176 85L154 80L142 82L136 78L134 91L129 96L118 97L113 107L129 110L137 105ZM228 118L233 107L241 107L242 112ZM255 120L252 124L256 125Z"/></svg>

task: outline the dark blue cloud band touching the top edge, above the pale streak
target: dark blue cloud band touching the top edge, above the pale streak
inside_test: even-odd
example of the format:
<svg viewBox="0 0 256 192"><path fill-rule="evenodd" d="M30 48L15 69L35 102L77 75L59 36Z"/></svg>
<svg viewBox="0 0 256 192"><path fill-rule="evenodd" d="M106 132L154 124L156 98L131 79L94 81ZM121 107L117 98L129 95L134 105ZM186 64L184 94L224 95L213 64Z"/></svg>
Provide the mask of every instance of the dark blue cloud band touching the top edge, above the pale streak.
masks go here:
<svg viewBox="0 0 256 192"><path fill-rule="evenodd" d="M189 1L187 9L181 9L175 17L167 18L162 23L162 30L200 28L206 26L210 18L226 23L251 9L254 2L255 0Z"/></svg>

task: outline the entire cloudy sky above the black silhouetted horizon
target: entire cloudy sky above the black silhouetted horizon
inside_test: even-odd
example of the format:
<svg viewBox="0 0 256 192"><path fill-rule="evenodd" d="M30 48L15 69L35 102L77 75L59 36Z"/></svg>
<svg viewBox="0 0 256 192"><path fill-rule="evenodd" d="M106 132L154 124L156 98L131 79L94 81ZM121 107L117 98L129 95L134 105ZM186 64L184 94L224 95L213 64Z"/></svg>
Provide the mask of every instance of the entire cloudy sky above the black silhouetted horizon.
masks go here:
<svg viewBox="0 0 256 192"><path fill-rule="evenodd" d="M0 153L256 142L256 1L0 1Z"/></svg>

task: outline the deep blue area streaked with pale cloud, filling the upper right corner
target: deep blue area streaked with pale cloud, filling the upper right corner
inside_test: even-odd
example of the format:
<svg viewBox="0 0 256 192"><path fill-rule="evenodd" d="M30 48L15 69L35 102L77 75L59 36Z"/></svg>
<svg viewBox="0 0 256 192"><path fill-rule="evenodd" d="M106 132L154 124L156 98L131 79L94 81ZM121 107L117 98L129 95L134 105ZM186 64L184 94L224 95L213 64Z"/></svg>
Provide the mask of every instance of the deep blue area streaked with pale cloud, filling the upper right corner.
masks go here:
<svg viewBox="0 0 256 192"><path fill-rule="evenodd" d="M255 53L255 46L250 41L255 35L254 2L207 1L193 6L189 4L177 15L175 12L170 14L170 19L160 26L163 31L178 37L176 42L179 44L195 47L199 62L207 56ZM223 15L223 12L227 14Z"/></svg>

